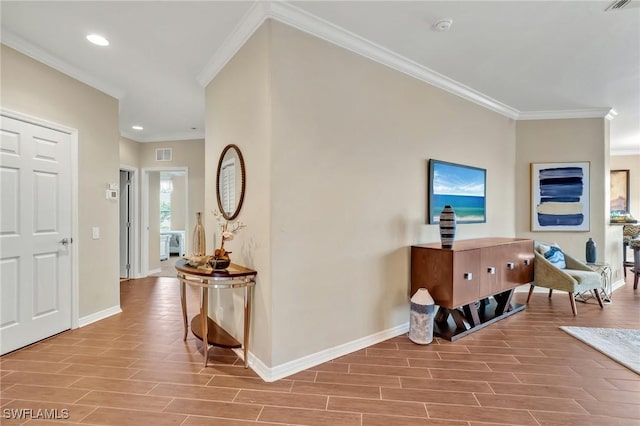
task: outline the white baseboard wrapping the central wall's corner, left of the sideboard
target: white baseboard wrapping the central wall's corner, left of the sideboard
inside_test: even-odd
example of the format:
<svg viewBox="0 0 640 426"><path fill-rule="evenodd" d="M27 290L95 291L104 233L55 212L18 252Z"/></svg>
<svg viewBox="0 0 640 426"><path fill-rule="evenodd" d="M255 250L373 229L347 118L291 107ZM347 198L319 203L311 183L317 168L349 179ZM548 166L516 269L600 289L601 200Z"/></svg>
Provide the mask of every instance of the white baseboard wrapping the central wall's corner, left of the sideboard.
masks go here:
<svg viewBox="0 0 640 426"><path fill-rule="evenodd" d="M344 343L333 348L325 349L320 352L316 352L311 355L304 356L302 358L294 359L293 361L285 362L284 364L276 365L275 367L269 367L262 362L253 353L249 352L249 365L265 382L273 382L283 379L295 373L299 373L308 368L314 367L318 364L322 364L332 359L336 359L343 355L350 354L360 349L364 349L376 343L384 342L392 337L399 336L409 331L409 323L400 324L396 327L383 330L381 332L372 334L370 336L362 337L360 339L353 340L351 342ZM234 349L236 354L243 359L242 349Z"/></svg>

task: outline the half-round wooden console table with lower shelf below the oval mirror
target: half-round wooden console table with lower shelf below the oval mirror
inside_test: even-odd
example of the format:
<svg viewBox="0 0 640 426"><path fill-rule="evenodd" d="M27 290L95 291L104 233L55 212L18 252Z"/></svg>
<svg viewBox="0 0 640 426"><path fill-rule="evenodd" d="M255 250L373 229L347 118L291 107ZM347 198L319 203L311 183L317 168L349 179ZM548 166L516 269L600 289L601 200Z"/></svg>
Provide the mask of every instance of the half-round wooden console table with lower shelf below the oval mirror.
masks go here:
<svg viewBox="0 0 640 426"><path fill-rule="evenodd" d="M209 358L209 345L223 348L243 348L244 367L249 366L249 325L251 323L251 297L253 287L256 284L256 275L253 269L231 264L227 269L214 270L211 273L203 272L187 265L184 259L176 262L178 280L180 280L180 302L182 303L182 315L184 321L184 336L187 340L187 298L185 284L199 287L201 290L200 313L191 320L191 332L202 340L204 347L204 366L207 366ZM209 289L244 288L244 342L240 344L233 336L209 318ZM206 318L206 321L203 320ZM206 338L204 338L206 336Z"/></svg>

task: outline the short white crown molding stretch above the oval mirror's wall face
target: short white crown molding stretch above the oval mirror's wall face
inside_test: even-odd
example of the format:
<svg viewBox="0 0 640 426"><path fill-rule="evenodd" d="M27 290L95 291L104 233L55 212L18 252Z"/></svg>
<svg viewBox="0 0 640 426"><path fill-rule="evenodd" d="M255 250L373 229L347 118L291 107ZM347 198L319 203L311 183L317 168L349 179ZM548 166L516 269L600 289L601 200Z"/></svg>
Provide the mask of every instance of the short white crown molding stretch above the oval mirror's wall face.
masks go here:
<svg viewBox="0 0 640 426"><path fill-rule="evenodd" d="M260 25L268 18L270 2L256 1L235 26L233 31L222 42L213 57L207 62L197 76L198 83L206 87L222 68L238 53L238 50L249 40Z"/></svg>

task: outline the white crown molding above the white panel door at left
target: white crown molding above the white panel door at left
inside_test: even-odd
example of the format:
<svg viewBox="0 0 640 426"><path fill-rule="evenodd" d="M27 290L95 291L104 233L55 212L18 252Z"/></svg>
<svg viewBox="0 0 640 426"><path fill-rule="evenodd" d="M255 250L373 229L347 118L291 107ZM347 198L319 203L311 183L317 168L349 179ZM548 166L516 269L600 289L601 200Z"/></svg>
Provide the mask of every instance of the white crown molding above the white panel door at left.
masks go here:
<svg viewBox="0 0 640 426"><path fill-rule="evenodd" d="M50 53L45 52L41 48L29 43L25 39L15 35L11 31L8 31L6 29L2 30L2 44L5 44L10 48L17 50L18 52L27 55L30 58L35 59L38 62L42 62L43 64L48 65L51 68L58 70L70 77L73 77L76 80L79 80L84 84L87 84L94 89L104 92L116 99L122 99L125 95L124 90L114 87L89 75L81 69L76 68L70 63L63 61L51 55Z"/></svg>

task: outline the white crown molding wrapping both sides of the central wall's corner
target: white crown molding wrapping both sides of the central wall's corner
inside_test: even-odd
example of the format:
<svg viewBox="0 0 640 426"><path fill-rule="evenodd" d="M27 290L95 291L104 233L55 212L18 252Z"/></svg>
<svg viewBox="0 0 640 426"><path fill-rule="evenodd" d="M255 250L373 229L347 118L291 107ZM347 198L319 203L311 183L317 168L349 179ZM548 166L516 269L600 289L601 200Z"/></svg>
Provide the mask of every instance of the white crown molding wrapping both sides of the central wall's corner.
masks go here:
<svg viewBox="0 0 640 426"><path fill-rule="evenodd" d="M203 87L209 84L266 19L273 19L289 25L509 118L515 119L520 114L520 111L515 108L505 105L477 90L309 12L280 1L254 4L198 75L198 82Z"/></svg>

